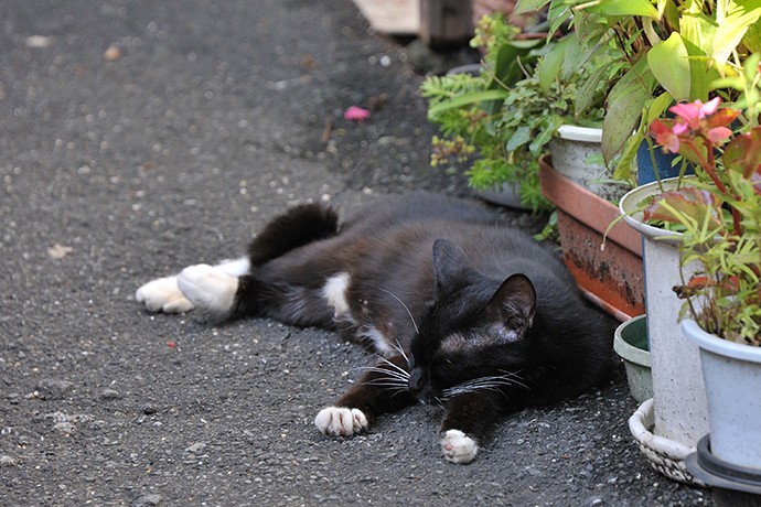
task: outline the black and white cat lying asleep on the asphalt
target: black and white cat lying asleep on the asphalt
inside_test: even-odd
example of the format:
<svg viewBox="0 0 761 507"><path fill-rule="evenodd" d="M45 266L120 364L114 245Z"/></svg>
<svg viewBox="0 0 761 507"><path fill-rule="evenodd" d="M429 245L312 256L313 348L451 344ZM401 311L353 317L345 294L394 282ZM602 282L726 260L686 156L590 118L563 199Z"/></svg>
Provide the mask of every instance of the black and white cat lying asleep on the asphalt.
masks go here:
<svg viewBox="0 0 761 507"><path fill-rule="evenodd" d="M151 312L201 308L342 332L383 359L314 423L351 436L416 402L444 407L447 460L471 462L492 424L609 374L612 330L550 252L470 202L410 194L344 223L294 207L248 257L185 268L136 293Z"/></svg>

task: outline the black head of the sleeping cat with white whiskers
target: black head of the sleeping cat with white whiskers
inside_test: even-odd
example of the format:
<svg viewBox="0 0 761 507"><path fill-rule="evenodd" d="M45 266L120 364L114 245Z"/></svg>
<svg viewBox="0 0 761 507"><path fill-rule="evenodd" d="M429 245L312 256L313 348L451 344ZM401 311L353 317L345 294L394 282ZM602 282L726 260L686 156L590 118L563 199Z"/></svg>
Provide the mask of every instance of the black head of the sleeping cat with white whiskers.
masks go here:
<svg viewBox="0 0 761 507"><path fill-rule="evenodd" d="M411 343L409 389L432 402L518 381L536 292L524 274L495 281L448 240L433 245L436 295Z"/></svg>

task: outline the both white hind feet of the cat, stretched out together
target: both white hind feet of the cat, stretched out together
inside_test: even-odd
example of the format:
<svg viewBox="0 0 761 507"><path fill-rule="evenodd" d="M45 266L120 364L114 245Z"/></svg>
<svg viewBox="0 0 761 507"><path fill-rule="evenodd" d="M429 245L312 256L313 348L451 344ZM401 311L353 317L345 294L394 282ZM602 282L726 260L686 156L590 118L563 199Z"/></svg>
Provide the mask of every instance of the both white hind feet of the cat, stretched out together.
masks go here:
<svg viewBox="0 0 761 507"><path fill-rule="evenodd" d="M246 274L249 261L246 258L223 261L217 266L197 265L185 268L180 274L159 278L140 287L135 299L149 312L184 313L196 306L228 311L225 294L233 279ZM233 292L233 296L235 292ZM231 304L232 305L232 304Z"/></svg>

